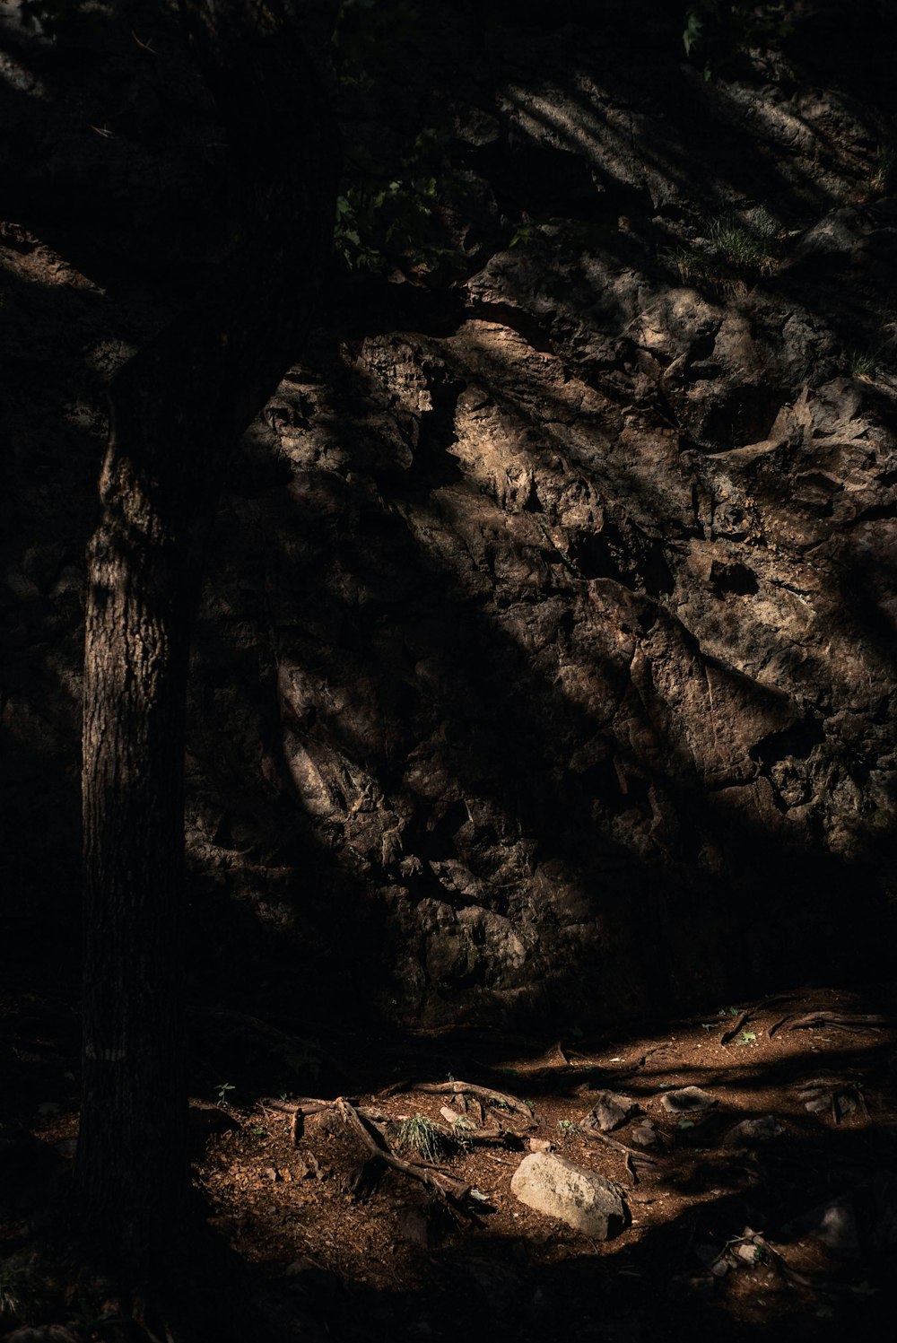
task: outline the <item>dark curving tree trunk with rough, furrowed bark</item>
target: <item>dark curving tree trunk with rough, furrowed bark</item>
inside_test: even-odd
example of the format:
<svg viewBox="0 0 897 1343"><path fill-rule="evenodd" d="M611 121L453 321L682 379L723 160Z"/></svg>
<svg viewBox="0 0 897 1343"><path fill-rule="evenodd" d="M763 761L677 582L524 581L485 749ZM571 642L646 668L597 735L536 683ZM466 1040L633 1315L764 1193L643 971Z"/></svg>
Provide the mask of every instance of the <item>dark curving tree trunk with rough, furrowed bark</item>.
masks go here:
<svg viewBox="0 0 897 1343"><path fill-rule="evenodd" d="M83 717L85 1221L150 1269L188 1191L184 701L203 513L289 367L330 255L338 149L279 0L181 0L227 133L234 243L124 365L89 548ZM141 32L141 38L144 34Z"/></svg>

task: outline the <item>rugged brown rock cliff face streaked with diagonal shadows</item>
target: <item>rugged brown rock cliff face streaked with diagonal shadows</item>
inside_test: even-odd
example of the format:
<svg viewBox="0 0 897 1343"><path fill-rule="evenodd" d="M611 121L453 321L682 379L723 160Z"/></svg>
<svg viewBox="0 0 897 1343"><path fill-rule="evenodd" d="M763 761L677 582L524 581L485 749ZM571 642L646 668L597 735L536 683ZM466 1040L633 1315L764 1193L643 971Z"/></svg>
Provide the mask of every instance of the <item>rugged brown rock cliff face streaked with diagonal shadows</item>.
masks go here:
<svg viewBox="0 0 897 1343"><path fill-rule="evenodd" d="M451 261L352 281L247 435L197 927L434 1022L855 972L896 894L882 34L833 62L807 4L704 79L662 5L491 8L427 7L395 122L346 111L440 128Z"/></svg>

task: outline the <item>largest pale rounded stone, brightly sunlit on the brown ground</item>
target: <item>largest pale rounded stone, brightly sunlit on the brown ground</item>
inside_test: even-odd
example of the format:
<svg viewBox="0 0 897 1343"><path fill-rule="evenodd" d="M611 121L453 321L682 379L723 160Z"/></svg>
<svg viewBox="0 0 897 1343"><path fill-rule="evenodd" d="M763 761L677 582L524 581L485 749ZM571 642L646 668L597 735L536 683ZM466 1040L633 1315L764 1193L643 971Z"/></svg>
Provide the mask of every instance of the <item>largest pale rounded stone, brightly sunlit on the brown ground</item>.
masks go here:
<svg viewBox="0 0 897 1343"><path fill-rule="evenodd" d="M599 1241L611 1240L626 1223L626 1205L615 1185L553 1152L524 1156L510 1191L537 1213Z"/></svg>

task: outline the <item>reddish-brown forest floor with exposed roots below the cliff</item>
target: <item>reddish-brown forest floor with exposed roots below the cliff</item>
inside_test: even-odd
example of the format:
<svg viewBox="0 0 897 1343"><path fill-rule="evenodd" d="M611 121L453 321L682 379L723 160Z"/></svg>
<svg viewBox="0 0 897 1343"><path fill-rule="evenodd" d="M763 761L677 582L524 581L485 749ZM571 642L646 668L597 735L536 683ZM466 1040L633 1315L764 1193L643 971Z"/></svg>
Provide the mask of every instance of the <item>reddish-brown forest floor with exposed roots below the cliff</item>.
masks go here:
<svg viewBox="0 0 897 1343"><path fill-rule="evenodd" d="M38 999L17 1013L4 1044L19 1065L46 1068L55 1050L63 1066ZM807 988L628 1031L340 1034L325 1054L298 1023L207 1013L201 1038L224 1029L219 1048L254 1057L242 1074L231 1053L235 1081L192 1105L195 1178L258 1281L259 1338L874 1336L897 1258L896 1022L890 990ZM282 1064L290 1041L294 1074L314 1085L283 1091L271 1070L267 1095L265 1060L274 1046ZM686 1086L706 1108L670 1108ZM619 1124L604 1092L631 1108ZM68 1162L77 1111L32 1105L31 1135ZM440 1135L430 1160L407 1138L419 1116ZM585 1237L512 1193L545 1147L619 1187L619 1234ZM52 1277L43 1257L40 1210L19 1194L0 1219L0 1303L16 1265ZM73 1338L118 1338L101 1316L70 1303Z"/></svg>

